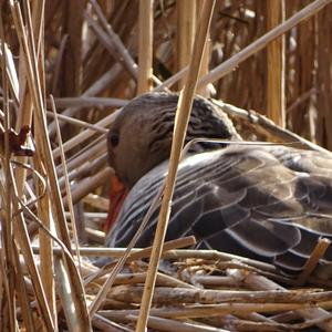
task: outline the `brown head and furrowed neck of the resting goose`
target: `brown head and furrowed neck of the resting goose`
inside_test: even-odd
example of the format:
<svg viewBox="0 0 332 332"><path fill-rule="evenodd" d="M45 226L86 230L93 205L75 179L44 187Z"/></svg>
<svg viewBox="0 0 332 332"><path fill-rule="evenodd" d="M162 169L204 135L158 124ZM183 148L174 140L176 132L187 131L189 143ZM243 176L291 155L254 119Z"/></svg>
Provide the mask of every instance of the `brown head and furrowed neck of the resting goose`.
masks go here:
<svg viewBox="0 0 332 332"><path fill-rule="evenodd" d="M174 93L146 93L129 102L111 126L108 162L126 188L169 157L177 101ZM186 142L196 137L241 139L228 116L199 96L193 103ZM191 152L207 148L211 145L198 143Z"/></svg>

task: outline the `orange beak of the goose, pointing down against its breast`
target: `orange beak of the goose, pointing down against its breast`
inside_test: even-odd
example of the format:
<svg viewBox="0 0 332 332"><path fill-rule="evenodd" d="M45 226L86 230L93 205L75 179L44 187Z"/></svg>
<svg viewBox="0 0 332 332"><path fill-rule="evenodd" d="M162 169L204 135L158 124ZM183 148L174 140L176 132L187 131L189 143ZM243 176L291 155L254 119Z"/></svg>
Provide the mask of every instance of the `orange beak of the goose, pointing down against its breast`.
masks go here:
<svg viewBox="0 0 332 332"><path fill-rule="evenodd" d="M120 179L113 175L111 177L110 209L104 226L106 234L108 234L114 226L127 194L128 190L124 187Z"/></svg>

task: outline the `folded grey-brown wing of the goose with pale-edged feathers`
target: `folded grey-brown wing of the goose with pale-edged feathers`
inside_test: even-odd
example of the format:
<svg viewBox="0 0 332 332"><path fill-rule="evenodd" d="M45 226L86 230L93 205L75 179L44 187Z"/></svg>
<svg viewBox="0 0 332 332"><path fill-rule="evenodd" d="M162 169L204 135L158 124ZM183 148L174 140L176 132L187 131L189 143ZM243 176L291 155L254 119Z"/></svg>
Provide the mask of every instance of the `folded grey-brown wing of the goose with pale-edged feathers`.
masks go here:
<svg viewBox="0 0 332 332"><path fill-rule="evenodd" d="M308 219L332 222L332 167L326 164L332 166L328 156L288 147L236 146L187 157L179 167L166 238L195 235L200 248L301 269L319 237L331 237L302 225ZM135 185L108 245L128 243L166 169L159 165ZM137 246L151 245L158 209ZM332 249L325 259L332 261Z"/></svg>

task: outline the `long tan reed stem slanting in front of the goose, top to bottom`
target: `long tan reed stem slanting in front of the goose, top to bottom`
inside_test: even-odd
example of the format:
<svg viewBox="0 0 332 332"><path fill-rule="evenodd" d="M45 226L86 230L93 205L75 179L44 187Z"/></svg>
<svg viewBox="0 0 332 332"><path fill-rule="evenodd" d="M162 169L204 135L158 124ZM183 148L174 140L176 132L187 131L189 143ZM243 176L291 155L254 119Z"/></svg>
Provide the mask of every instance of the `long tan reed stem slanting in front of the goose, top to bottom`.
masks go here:
<svg viewBox="0 0 332 332"><path fill-rule="evenodd" d="M153 241L153 251L147 270L146 282L141 303L139 319L137 321L136 331L143 332L146 329L156 274L159 266L163 242L165 240L167 224L170 212L170 200L174 193L177 167L180 159L181 149L185 142L185 135L188 126L190 108L193 104L194 93L196 90L197 79L201 65L201 56L206 44L207 33L210 27L211 15L215 1L206 1L203 14L197 27L197 38L193 48L193 58L189 64L189 73L185 89L180 94L178 110L176 112L175 127L173 134L173 144L170 149L168 174L165 183L164 196L160 206L160 212L157 224L155 238Z"/></svg>

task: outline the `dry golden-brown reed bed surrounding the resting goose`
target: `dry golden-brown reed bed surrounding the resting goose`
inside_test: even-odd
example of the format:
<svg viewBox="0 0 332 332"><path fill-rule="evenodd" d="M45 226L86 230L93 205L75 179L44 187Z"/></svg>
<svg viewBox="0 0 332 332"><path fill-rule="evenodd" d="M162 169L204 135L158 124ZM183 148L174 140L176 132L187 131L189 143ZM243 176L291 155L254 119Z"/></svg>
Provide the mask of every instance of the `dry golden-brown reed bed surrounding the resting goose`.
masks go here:
<svg viewBox="0 0 332 332"><path fill-rule="evenodd" d="M0 331L332 331L324 239L295 278L165 229L155 255L103 247L107 127L137 93L185 85L188 113L197 87L248 141L331 149L330 2L2 1Z"/></svg>

